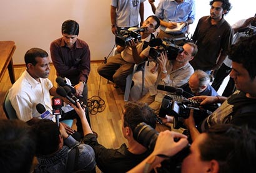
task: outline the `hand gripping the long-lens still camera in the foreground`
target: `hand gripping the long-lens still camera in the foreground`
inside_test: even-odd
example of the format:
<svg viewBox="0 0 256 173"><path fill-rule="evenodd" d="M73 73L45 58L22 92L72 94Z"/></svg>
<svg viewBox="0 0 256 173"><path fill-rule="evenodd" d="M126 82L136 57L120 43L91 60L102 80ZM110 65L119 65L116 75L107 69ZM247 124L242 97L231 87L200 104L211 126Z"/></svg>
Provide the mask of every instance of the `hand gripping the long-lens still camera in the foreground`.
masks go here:
<svg viewBox="0 0 256 173"><path fill-rule="evenodd" d="M175 138L180 138L180 140L178 142L175 142ZM175 133L174 131L166 130L159 133L152 154L154 156L157 154L174 156L175 154L177 154L177 152L187 146L187 144L189 144L189 141L187 141L187 136L185 136L184 134Z"/></svg>

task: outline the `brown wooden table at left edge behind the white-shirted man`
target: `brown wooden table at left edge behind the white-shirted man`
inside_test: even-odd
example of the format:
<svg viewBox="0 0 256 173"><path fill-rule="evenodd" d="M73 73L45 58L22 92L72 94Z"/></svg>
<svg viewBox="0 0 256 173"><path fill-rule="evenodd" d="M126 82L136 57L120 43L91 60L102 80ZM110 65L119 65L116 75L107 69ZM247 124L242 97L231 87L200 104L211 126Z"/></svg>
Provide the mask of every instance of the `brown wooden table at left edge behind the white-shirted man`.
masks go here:
<svg viewBox="0 0 256 173"><path fill-rule="evenodd" d="M4 76L6 68L9 71L11 83L15 82L15 75L13 69L12 55L16 49L15 42L13 41L0 41L0 82Z"/></svg>

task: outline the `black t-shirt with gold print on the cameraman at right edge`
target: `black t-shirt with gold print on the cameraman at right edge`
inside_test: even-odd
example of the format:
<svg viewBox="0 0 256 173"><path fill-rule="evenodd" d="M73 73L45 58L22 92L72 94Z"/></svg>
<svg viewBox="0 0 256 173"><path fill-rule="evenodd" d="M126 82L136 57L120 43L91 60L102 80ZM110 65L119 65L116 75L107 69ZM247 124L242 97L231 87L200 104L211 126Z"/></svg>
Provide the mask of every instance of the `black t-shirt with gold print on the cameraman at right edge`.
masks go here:
<svg viewBox="0 0 256 173"><path fill-rule="evenodd" d="M247 124L256 129L256 99L247 98L244 92L235 91L222 105L202 123L202 131L214 124Z"/></svg>

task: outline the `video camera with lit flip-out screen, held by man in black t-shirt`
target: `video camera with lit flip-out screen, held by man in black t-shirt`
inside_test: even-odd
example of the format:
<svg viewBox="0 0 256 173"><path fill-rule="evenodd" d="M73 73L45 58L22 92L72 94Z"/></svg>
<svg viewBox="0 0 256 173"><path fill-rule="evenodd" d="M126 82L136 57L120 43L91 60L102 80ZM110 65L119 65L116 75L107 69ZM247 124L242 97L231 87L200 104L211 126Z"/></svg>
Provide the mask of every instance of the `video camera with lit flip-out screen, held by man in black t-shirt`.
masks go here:
<svg viewBox="0 0 256 173"><path fill-rule="evenodd" d="M166 94L162 100L159 117L166 115L174 116L174 128L185 128L183 119L189 118L190 110L194 110L195 124L199 125L218 108L218 105L200 105L200 100L187 99L182 96L182 88L166 87L158 85L158 90L168 91L172 94Z"/></svg>

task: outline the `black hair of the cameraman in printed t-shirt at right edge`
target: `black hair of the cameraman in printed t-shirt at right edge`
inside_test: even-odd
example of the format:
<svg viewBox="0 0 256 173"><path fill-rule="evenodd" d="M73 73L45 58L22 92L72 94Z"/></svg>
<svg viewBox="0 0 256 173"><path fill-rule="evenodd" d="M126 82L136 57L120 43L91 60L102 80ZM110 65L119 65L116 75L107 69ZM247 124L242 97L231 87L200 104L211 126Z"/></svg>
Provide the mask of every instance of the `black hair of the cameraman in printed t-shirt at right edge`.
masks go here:
<svg viewBox="0 0 256 173"><path fill-rule="evenodd" d="M249 73L251 80L256 77L256 34L247 37L237 44L231 45L228 55L230 60L242 63L243 67Z"/></svg>

